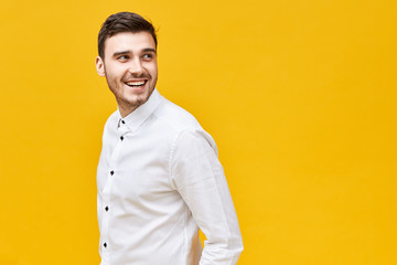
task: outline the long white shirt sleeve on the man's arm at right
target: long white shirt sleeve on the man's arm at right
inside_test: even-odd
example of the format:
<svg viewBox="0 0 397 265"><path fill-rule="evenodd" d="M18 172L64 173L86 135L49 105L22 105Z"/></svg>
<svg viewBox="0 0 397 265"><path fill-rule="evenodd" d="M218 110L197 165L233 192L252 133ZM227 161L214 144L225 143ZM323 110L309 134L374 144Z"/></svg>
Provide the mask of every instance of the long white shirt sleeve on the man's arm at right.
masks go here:
<svg viewBox="0 0 397 265"><path fill-rule="evenodd" d="M236 264L243 240L214 140L203 130L182 131L170 162L173 184L206 236L200 265Z"/></svg>

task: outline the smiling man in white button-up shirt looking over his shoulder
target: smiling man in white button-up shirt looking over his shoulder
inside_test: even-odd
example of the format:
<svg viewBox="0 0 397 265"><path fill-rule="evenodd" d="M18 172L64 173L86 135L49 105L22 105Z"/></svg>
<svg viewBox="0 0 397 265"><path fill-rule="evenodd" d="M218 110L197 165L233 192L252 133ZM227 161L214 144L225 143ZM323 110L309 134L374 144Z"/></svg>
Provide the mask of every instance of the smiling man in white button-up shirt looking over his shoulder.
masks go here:
<svg viewBox="0 0 397 265"><path fill-rule="evenodd" d="M242 235L215 142L157 91L153 25L112 14L98 53L97 72L118 105L97 172L101 265L236 264Z"/></svg>

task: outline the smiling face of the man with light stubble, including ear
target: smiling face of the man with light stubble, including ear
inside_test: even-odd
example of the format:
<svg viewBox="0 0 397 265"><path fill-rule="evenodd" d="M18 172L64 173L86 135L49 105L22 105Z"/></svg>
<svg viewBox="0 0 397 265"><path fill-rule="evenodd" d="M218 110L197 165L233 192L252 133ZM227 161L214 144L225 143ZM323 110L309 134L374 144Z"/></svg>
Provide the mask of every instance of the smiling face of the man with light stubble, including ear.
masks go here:
<svg viewBox="0 0 397 265"><path fill-rule="evenodd" d="M96 59L122 117L146 103L158 77L157 51L149 32L122 32L105 42L105 59Z"/></svg>

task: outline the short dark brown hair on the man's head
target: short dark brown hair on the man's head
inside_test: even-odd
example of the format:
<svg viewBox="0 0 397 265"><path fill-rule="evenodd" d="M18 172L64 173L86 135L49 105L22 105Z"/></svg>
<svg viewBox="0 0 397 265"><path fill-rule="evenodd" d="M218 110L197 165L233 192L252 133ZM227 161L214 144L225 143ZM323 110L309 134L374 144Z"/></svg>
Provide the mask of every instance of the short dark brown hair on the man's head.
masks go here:
<svg viewBox="0 0 397 265"><path fill-rule="evenodd" d="M157 47L157 36L155 29L151 22L143 19L141 15L132 12L119 12L111 14L106 19L104 24L100 28L98 34L98 54L104 60L105 59L105 42L110 36L114 36L121 32L132 32L138 33L141 31L149 32Z"/></svg>

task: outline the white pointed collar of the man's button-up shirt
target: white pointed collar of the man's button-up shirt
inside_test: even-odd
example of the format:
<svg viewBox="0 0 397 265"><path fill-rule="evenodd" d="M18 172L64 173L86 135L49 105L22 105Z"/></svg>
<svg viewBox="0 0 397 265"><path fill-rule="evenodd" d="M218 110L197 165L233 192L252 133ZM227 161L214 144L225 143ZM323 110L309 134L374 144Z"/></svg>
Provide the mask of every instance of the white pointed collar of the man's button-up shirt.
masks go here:
<svg viewBox="0 0 397 265"><path fill-rule="evenodd" d="M157 88L152 92L149 99L136 108L132 113L127 115L125 118L121 118L120 112L118 110L118 127L121 126L121 123L125 121L125 125L129 130L136 131L143 121L149 118L149 116L154 112L154 109L161 103L161 95Z"/></svg>

